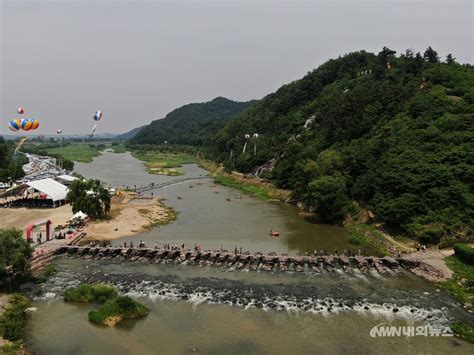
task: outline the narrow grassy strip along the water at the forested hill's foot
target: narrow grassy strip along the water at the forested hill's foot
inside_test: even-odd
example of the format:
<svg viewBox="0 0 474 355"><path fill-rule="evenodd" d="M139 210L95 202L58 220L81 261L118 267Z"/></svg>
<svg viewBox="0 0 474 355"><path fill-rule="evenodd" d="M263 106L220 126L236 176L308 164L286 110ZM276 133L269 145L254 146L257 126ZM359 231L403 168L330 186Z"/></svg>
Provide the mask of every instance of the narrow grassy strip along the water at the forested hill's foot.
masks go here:
<svg viewBox="0 0 474 355"><path fill-rule="evenodd" d="M251 196L262 200L280 200L287 201L290 197L290 191L281 190L272 183L259 178L246 178L239 173L228 173L224 168L209 160L200 160L199 166L209 171L217 184L239 189Z"/></svg>

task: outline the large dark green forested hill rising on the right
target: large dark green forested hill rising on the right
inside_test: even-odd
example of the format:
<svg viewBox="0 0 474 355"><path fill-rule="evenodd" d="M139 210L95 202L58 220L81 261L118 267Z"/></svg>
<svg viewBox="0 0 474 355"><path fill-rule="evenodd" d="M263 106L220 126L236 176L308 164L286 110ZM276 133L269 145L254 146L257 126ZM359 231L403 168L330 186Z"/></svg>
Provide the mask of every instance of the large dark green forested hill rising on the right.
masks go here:
<svg viewBox="0 0 474 355"><path fill-rule="evenodd" d="M266 96L218 132L209 154L243 172L276 158L267 177L324 221L357 201L387 227L436 240L473 232L473 125L473 66L441 62L432 48L384 48L329 60ZM243 155L253 133L257 154Z"/></svg>

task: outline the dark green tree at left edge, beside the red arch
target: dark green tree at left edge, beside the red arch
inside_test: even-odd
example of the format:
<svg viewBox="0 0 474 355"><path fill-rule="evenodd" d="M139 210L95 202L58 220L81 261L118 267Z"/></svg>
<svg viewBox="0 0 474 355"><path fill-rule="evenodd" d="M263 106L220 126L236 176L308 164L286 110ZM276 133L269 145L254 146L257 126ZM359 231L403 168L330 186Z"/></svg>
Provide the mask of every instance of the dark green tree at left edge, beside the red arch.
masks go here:
<svg viewBox="0 0 474 355"><path fill-rule="evenodd" d="M31 247L18 229L0 229L0 288L10 287L29 272Z"/></svg>

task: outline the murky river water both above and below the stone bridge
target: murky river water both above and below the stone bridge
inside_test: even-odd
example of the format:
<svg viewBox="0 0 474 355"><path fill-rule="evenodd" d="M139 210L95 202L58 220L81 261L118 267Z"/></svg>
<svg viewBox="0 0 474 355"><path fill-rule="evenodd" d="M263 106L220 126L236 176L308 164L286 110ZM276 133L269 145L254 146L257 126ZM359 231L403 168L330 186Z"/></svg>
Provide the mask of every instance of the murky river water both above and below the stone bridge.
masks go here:
<svg viewBox="0 0 474 355"><path fill-rule="evenodd" d="M113 185L168 179L147 175L129 154L105 153L92 164L78 164L77 170ZM196 166L186 171L204 174ZM290 252L346 245L341 229L309 224L291 206L251 198L227 202L227 196L239 196L227 188L211 189L204 182L189 188L183 183L159 194L180 212L179 219L137 238ZM176 201L177 194L183 200ZM238 204L241 207L234 206ZM269 228L278 228L282 237L266 239ZM191 236L184 238L187 233ZM337 242L324 244L323 237ZM55 265L58 272L42 286L43 296L36 298L38 311L28 330L30 349L41 354L474 352L471 344L452 337L370 336L380 323L438 328L454 319L472 321L472 315L449 295L408 272L273 274L63 258ZM95 327L87 321L92 306L62 301L68 287L100 281L138 298L150 314L115 328Z"/></svg>

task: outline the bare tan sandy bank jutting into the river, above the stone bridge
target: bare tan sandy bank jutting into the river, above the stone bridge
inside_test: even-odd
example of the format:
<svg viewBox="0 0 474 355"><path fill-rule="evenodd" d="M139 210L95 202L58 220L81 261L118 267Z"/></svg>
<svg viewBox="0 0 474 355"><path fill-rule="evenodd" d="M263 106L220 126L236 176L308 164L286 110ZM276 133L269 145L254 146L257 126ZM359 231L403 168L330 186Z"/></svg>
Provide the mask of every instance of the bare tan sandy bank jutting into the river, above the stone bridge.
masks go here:
<svg viewBox="0 0 474 355"><path fill-rule="evenodd" d="M110 217L89 222L84 228L87 235L83 243L133 236L175 220L176 212L157 197L140 198L132 193L119 192L112 201Z"/></svg>

